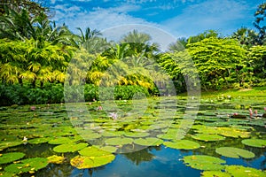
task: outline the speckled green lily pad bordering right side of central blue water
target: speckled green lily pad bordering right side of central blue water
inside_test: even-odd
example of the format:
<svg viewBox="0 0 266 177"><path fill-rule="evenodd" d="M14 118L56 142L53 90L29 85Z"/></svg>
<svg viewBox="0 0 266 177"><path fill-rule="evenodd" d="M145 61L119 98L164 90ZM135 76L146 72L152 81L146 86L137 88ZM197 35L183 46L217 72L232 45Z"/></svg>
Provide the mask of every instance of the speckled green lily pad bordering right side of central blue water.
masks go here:
<svg viewBox="0 0 266 177"><path fill-rule="evenodd" d="M205 155L193 155L184 157L185 165L198 170L223 170L225 161L221 158L215 158Z"/></svg>

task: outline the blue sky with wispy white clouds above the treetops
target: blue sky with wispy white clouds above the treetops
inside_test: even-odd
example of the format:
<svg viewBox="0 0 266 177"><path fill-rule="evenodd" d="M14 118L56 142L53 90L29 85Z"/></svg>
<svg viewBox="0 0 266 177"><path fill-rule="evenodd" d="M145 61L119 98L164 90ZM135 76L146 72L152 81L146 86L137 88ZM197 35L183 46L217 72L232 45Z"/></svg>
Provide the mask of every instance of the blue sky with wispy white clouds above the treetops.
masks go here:
<svg viewBox="0 0 266 177"><path fill-rule="evenodd" d="M128 24L158 27L188 37L208 29L231 35L253 28L254 12L263 0L50 0L53 19L76 27L105 30Z"/></svg>

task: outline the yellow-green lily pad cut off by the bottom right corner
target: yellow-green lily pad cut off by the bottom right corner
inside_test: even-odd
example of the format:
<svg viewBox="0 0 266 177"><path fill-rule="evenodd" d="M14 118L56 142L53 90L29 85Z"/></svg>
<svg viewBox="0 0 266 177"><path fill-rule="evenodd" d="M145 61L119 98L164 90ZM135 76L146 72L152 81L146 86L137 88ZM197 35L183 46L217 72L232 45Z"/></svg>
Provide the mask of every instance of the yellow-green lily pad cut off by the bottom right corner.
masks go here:
<svg viewBox="0 0 266 177"><path fill-rule="evenodd" d="M225 171L227 173L230 173L231 176L234 176L234 177L245 177L245 176L262 177L262 176L266 176L266 173L262 172L261 170L251 168L251 167L245 167L242 165L228 165L225 167Z"/></svg>

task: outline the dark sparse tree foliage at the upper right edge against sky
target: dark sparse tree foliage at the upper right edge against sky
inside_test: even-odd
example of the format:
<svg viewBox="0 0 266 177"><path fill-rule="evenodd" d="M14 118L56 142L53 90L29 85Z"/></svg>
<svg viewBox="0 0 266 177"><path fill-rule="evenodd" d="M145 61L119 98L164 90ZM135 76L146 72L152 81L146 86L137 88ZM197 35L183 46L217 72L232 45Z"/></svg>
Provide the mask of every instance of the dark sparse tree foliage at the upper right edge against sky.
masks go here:
<svg viewBox="0 0 266 177"><path fill-rule="evenodd" d="M254 13L255 21L254 27L259 30L258 42L263 44L265 42L266 27L262 25L262 22L266 16L266 3L262 3L258 6L257 11Z"/></svg>

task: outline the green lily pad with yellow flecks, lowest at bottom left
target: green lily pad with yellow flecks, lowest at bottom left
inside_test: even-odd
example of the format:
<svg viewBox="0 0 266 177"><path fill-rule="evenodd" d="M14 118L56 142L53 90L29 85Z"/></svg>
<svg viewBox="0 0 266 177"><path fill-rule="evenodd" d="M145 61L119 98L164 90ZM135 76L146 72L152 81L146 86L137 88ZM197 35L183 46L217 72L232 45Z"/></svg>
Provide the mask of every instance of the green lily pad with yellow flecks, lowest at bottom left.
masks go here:
<svg viewBox="0 0 266 177"><path fill-rule="evenodd" d="M27 158L21 160L20 163L8 165L4 168L4 171L8 173L35 173L36 171L47 166L47 158Z"/></svg>

